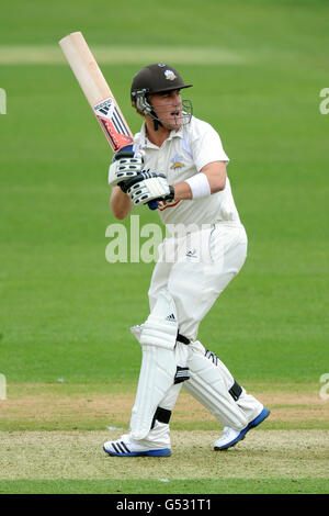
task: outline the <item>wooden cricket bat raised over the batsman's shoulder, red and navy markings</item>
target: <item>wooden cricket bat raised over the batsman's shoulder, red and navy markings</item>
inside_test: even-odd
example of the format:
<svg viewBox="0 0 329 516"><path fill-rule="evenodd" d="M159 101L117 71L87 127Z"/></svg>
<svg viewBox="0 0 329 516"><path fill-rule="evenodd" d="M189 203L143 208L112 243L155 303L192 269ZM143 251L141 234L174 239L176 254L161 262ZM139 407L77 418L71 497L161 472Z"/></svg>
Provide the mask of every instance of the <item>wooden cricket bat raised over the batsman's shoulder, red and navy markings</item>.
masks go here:
<svg viewBox="0 0 329 516"><path fill-rule="evenodd" d="M97 120L114 153L133 152L133 133L81 32L72 32L59 41ZM151 210L157 201L148 203Z"/></svg>

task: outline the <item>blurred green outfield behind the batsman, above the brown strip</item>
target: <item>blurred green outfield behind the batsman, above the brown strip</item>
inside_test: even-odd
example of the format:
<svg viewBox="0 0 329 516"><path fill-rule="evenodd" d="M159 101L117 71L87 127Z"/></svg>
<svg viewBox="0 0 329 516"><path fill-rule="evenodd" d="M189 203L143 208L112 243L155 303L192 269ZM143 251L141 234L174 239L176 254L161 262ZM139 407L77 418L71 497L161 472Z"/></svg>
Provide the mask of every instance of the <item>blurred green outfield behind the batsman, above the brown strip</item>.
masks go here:
<svg viewBox="0 0 329 516"><path fill-rule="evenodd" d="M154 263L105 260L105 231L117 222L109 209L112 153L58 46L73 31L102 56L134 132L132 77L170 57L194 85L194 114L214 125L230 157L249 256L200 339L239 381L317 383L328 372L329 115L319 111L329 87L328 19L325 0L1 7L0 372L8 382L129 383L139 371L129 326L148 315ZM140 225L158 222L157 213L138 213Z"/></svg>

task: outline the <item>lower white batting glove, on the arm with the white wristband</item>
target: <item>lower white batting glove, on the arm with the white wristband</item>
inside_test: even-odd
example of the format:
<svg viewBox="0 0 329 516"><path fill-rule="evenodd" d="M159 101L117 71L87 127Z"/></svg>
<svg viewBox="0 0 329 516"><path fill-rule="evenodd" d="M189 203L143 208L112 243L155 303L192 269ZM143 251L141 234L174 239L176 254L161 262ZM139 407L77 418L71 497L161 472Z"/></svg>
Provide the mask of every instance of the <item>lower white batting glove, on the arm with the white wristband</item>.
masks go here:
<svg viewBox="0 0 329 516"><path fill-rule="evenodd" d="M149 201L172 201L173 187L168 184L163 173L141 172L148 175L143 181L134 181L127 189L135 205L146 204Z"/></svg>

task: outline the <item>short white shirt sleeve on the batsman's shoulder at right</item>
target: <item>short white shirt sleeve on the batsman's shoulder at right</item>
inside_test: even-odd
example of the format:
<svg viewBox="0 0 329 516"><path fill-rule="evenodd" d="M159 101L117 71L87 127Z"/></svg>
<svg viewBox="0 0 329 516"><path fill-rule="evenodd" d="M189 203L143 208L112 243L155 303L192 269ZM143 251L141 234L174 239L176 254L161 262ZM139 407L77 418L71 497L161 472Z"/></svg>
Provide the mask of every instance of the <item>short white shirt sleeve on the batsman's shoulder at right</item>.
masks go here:
<svg viewBox="0 0 329 516"><path fill-rule="evenodd" d="M229 161L218 133L207 122L198 124L195 131L192 154L197 171L212 161Z"/></svg>

